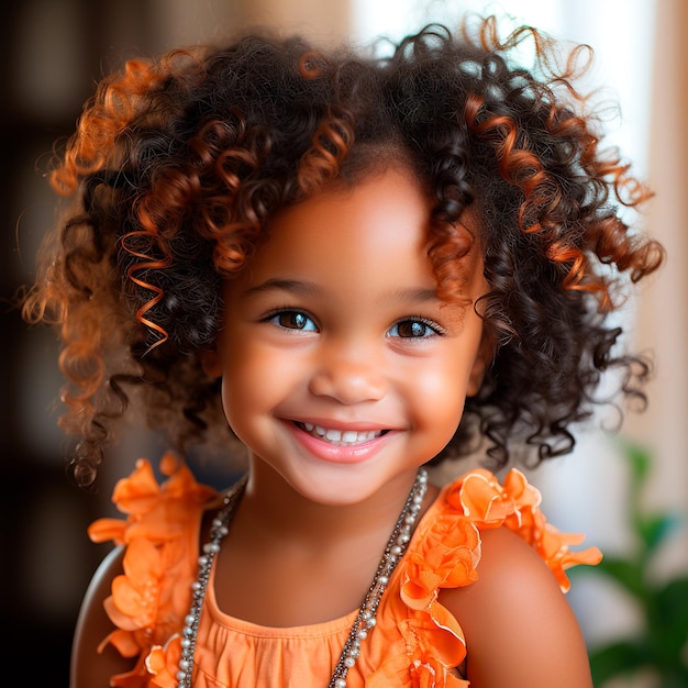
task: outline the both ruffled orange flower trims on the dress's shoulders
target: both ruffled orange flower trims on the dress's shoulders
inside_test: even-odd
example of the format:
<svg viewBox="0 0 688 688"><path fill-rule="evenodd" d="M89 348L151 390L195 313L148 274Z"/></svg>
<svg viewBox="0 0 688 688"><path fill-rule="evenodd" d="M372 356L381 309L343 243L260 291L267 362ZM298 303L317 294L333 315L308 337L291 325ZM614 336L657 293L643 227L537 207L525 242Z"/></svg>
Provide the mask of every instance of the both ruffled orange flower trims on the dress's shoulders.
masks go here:
<svg viewBox="0 0 688 688"><path fill-rule="evenodd" d="M95 542L126 545L124 574L114 579L106 610L116 626L101 643L125 657L138 657L126 674L112 677L116 688L176 688L179 633L197 575L200 520L218 492L196 482L188 468L168 454L160 464L168 476L158 485L148 462L118 482L113 501L126 520L100 519L89 529ZM564 573L577 564L597 564L597 547L572 552L581 535L561 533L540 511L540 492L512 469L503 485L477 469L446 486L419 525L387 591L390 636L382 665L365 679L366 688L468 688L454 668L466 657L463 631L439 601L442 588L474 582L480 561L480 531L507 526L533 546L564 591ZM385 598L384 598L385 599ZM396 621L395 621L396 619ZM380 618L380 625L385 620ZM382 631L384 629L380 629Z"/></svg>

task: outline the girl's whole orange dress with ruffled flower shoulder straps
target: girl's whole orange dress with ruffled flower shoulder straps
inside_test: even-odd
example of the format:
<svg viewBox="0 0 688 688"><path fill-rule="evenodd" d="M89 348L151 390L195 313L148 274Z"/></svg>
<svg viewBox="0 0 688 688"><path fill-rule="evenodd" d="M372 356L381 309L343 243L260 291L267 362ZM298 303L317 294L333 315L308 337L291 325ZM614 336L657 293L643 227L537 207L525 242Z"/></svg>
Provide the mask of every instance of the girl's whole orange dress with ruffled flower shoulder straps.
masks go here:
<svg viewBox="0 0 688 688"><path fill-rule="evenodd" d="M220 504L215 490L198 484L168 454L158 485L148 462L118 482L113 501L126 520L100 519L95 542L126 546L106 610L115 629L102 642L137 658L132 672L112 678L119 688L176 688L179 633L196 580L203 512ZM418 523L382 596L377 624L347 674L349 688L460 688L469 683L453 667L466 656L457 620L437 599L441 588L470 585L478 574L480 531L504 525L531 544L556 576L576 564L596 564L596 547L569 550L581 535L561 533L539 508L540 492L511 469L503 484L476 469L445 486ZM193 658L195 688L310 688L326 686L357 610L326 623L266 628L224 614L212 573Z"/></svg>

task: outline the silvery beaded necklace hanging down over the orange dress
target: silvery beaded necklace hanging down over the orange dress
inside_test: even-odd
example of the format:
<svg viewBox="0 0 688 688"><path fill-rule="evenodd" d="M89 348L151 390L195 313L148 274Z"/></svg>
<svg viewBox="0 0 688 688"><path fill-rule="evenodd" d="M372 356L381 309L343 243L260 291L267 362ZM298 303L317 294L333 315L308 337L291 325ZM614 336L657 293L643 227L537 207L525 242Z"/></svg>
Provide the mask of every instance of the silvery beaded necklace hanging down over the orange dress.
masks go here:
<svg viewBox="0 0 688 688"><path fill-rule="evenodd" d="M225 495L223 506L211 524L210 542L203 545L202 554L199 556L198 578L191 586L191 608L184 619L184 629L181 632L181 657L179 659L179 670L177 672L178 688L191 688L193 651L196 648L196 637L203 599L206 597L206 589L208 588L208 580L210 578L210 569L215 555L220 552L222 539L229 532L230 522L244 495L247 481L248 476L244 476ZM360 655L362 642L375 628L380 599L387 588L392 572L409 545L426 489L428 471L424 468L420 468L415 474L415 480L413 481L411 491L389 536L382 558L375 572L373 582L366 592L358 614L348 632L348 636L342 648L342 654L330 679L329 688L346 688L346 674L355 666L356 659Z"/></svg>

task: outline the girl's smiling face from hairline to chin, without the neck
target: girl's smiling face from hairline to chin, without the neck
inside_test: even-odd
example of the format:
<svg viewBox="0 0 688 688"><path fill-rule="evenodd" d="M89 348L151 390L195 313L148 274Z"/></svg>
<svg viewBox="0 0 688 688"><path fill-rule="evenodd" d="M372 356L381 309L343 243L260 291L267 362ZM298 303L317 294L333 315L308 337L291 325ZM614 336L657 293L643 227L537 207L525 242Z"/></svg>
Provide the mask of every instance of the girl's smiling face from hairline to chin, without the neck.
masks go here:
<svg viewBox="0 0 688 688"><path fill-rule="evenodd" d="M224 288L206 367L252 476L320 503L354 503L395 484L451 440L477 391L482 325L435 295L430 201L388 169L331 186L271 221L269 240ZM478 251L466 297L486 291ZM252 478L253 479L253 478Z"/></svg>

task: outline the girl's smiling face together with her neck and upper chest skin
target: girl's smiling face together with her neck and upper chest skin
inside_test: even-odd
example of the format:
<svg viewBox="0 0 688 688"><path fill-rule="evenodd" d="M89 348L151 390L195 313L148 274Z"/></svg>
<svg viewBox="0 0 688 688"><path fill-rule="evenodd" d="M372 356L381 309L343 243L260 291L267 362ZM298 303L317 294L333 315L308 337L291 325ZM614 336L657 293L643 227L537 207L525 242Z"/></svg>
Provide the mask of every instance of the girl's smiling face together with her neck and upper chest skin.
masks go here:
<svg viewBox="0 0 688 688"><path fill-rule="evenodd" d="M218 600L233 615L293 625L355 609L418 467L478 389L482 323L435 295L429 211L406 173L335 186L279 213L226 285L206 367L251 452L218 562ZM468 260L475 299L486 285L478 252ZM359 439L340 446L312 425ZM259 601L236 593L247 589Z"/></svg>

